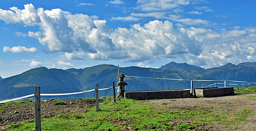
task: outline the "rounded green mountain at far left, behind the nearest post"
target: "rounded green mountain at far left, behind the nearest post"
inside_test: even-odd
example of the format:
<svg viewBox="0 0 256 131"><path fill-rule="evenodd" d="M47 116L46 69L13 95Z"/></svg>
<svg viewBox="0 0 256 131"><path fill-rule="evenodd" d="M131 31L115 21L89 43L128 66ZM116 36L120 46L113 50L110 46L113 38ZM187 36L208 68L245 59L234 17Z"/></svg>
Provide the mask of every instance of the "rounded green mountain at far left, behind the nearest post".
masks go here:
<svg viewBox="0 0 256 131"><path fill-rule="evenodd" d="M0 99L34 94L34 86L40 86L41 93L81 91L81 83L77 75L62 69L40 67L0 81Z"/></svg>

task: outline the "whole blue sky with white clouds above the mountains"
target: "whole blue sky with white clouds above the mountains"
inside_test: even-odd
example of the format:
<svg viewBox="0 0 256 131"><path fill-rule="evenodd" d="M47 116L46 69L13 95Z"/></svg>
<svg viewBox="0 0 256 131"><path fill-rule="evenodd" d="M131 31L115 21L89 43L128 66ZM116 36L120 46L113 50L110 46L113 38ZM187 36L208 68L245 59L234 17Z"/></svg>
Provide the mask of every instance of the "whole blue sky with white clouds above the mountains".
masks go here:
<svg viewBox="0 0 256 131"><path fill-rule="evenodd" d="M1 0L0 76L98 64L255 62L254 0Z"/></svg>

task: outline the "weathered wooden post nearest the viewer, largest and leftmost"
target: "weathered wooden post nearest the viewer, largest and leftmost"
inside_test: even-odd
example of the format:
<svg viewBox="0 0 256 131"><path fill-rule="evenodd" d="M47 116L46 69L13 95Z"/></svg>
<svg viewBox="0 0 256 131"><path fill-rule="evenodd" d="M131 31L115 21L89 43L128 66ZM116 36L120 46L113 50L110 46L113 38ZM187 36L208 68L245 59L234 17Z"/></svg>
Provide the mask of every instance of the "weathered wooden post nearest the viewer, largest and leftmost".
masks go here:
<svg viewBox="0 0 256 131"><path fill-rule="evenodd" d="M34 87L35 131L41 131L40 87Z"/></svg>

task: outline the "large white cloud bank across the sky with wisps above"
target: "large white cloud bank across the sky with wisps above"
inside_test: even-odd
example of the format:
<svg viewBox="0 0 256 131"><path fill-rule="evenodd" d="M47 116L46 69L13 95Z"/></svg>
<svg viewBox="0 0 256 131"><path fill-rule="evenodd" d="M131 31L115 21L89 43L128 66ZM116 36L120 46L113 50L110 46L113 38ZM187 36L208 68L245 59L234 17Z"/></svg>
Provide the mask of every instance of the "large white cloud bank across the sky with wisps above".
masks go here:
<svg viewBox="0 0 256 131"><path fill-rule="evenodd" d="M120 0L113 0L117 5ZM176 3L159 3L148 5L147 0L138 0L137 8L145 12L158 9L175 8L187 5L189 0ZM152 3L152 1L151 1ZM234 28L233 30L213 31L206 28L182 28L171 21L154 20L148 23L134 24L128 28L109 28L106 20L93 20L86 14L72 14L61 9L36 9L32 4L24 9L11 7L0 9L0 19L8 23L20 23L26 26L38 25L38 32L22 32L27 37L37 38L47 47L45 52L63 52L68 60L120 60L121 62L153 62L156 59L182 59L195 65L219 65L226 62L249 61L256 57L256 27ZM209 10L208 7L198 10ZM190 12L201 14L200 12ZM133 16L147 17L154 13ZM163 16L162 13L159 13ZM120 17L114 19L134 19ZM170 15L169 20L181 21L187 25L210 22L202 19L182 19ZM136 20L136 19L135 19ZM4 47L6 51L15 52L16 48ZM34 48L18 46L17 52L36 52ZM22 51L23 50L23 51ZM77 54L76 52L82 52ZM84 57L83 57L84 56ZM61 66L72 67L68 62L58 62Z"/></svg>

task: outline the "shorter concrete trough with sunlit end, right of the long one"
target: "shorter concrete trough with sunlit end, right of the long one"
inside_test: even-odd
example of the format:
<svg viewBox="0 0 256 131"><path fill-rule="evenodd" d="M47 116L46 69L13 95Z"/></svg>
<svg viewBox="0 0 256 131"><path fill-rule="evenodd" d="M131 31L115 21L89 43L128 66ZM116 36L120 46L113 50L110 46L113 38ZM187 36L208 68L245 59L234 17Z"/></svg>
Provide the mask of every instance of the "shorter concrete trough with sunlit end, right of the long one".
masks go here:
<svg viewBox="0 0 256 131"><path fill-rule="evenodd" d="M216 97L234 94L233 87L211 87L211 88L195 88L193 89L194 96Z"/></svg>

